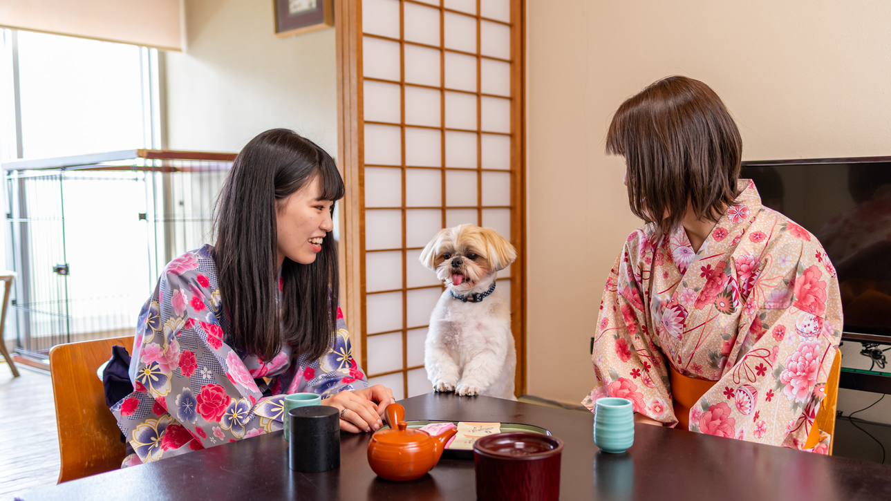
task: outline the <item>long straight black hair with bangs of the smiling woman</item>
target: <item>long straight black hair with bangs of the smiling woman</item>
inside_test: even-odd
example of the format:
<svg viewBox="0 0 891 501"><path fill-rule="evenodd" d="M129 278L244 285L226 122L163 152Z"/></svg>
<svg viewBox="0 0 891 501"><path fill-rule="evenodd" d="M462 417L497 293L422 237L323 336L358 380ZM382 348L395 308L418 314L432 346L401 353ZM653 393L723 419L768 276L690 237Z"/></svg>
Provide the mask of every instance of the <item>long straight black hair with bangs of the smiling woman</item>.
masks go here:
<svg viewBox="0 0 891 501"><path fill-rule="evenodd" d="M312 264L284 259L281 308L275 301L276 210L315 178L320 200L343 197L343 179L331 155L291 130L274 128L241 150L217 202L214 260L231 341L264 360L284 343L294 356L322 357L336 330L339 275L331 233Z"/></svg>

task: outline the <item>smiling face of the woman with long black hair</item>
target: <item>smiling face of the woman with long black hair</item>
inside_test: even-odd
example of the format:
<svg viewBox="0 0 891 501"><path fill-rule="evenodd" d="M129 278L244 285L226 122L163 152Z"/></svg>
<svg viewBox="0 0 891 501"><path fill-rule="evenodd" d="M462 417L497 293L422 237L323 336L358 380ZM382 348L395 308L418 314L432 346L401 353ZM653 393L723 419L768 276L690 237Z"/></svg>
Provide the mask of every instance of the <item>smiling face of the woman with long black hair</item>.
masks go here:
<svg viewBox="0 0 891 501"><path fill-rule="evenodd" d="M288 258L301 265L312 264L322 251L322 239L334 229L330 200L319 200L319 177L276 203L278 266Z"/></svg>

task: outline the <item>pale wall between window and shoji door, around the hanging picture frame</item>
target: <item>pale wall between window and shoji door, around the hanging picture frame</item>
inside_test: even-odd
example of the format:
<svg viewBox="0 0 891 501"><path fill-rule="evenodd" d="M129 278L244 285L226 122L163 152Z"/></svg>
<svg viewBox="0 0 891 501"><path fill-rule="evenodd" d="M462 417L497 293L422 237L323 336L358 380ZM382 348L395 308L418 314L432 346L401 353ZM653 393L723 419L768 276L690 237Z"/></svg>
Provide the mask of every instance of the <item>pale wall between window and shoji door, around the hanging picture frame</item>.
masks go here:
<svg viewBox="0 0 891 501"><path fill-rule="evenodd" d="M334 29L275 37L272 0L184 0L184 26L166 54L168 149L238 152L287 127L337 152Z"/></svg>

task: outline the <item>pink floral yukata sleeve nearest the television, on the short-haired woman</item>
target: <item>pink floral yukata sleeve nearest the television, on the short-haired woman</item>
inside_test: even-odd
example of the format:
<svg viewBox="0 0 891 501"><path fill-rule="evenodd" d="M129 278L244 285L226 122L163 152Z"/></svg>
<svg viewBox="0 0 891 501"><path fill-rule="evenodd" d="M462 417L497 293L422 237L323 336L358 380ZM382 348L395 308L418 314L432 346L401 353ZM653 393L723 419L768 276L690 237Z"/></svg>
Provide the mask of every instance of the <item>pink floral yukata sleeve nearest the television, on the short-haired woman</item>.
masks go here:
<svg viewBox="0 0 891 501"><path fill-rule="evenodd" d="M764 308L740 324L748 333L737 339L748 340L736 343L733 365L691 409L691 431L804 448L841 339L841 299L835 269L815 239L788 270L774 268L761 279L786 271L792 279L765 292Z"/></svg>

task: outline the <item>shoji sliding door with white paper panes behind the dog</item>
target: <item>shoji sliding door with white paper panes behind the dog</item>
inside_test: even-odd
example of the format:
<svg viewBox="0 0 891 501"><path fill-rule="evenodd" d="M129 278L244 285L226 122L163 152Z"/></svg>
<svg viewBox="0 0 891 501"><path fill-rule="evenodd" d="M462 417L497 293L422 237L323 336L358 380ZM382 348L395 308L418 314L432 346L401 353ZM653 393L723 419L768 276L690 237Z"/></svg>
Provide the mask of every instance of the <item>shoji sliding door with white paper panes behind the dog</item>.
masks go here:
<svg viewBox="0 0 891 501"><path fill-rule="evenodd" d="M347 323L372 383L431 390L423 368L443 292L421 249L443 227L495 228L525 368L522 12L519 0L339 2L339 159Z"/></svg>

